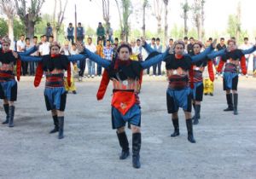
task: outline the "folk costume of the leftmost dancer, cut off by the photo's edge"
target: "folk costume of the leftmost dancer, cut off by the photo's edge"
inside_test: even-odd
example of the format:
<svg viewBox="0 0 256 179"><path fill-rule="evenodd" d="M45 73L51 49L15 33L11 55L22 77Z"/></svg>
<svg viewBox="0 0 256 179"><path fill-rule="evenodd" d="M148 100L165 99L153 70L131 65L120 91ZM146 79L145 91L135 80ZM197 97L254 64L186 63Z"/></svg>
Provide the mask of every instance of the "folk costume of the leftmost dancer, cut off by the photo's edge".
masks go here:
<svg viewBox="0 0 256 179"><path fill-rule="evenodd" d="M10 44L10 40L7 37L3 38L2 44ZM2 124L9 124L9 127L14 127L14 118L15 118L15 105L14 101L17 101L17 88L18 84L15 80L15 65L16 65L16 74L17 80L20 81L21 73L21 61L20 58L23 55L30 55L37 48L34 47L26 52L18 53L15 57L12 50L0 51L0 99L3 99L3 108L6 113L6 119Z"/></svg>

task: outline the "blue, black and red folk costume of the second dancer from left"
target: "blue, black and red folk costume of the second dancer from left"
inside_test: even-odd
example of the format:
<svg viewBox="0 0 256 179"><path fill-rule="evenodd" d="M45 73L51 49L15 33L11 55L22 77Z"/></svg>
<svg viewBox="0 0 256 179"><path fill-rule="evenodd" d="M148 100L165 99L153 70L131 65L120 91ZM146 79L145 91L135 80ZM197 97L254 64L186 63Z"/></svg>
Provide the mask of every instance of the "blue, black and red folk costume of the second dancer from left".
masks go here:
<svg viewBox="0 0 256 179"><path fill-rule="evenodd" d="M53 43L50 47L58 47ZM55 128L49 133L59 132L59 139L64 137L64 114L58 115L53 113L57 110L64 113L67 100L67 92L64 84L64 72L67 71L67 84L71 86L71 65L70 61L83 60L84 55L61 55L51 54L43 55L42 57L26 56L22 61L38 61L38 67L36 76L34 79L34 86L38 87L45 72L45 89L44 89L44 100L47 111L52 110L52 118L55 124Z"/></svg>

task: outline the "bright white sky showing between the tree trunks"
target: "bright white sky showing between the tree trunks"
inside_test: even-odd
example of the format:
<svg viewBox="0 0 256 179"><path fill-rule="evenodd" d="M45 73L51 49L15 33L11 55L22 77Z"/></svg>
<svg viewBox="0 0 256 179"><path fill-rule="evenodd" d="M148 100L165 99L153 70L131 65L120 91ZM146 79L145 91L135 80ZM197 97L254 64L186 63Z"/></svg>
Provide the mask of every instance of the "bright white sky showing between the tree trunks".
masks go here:
<svg viewBox="0 0 256 179"><path fill-rule="evenodd" d="M63 3L65 0L61 0ZM136 18L135 12L140 14L140 10L137 8L143 0L131 0L134 4L134 14L132 14L131 28L141 29L142 26L142 15ZM206 0L205 4L205 29L208 35L212 35L213 32L220 32L226 35L226 28L229 14L236 14L237 3L241 1L241 28L249 32L250 38L256 37L256 20L254 11L256 8L255 0ZM113 29L119 28L119 14L116 7L115 0L110 0L110 23ZM153 6L153 0L151 4ZM170 0L169 1L169 32L174 24L177 26L183 26L183 19L181 17L182 9L181 3L184 0ZM189 0L193 2L193 0ZM77 4L78 22L80 21L83 26L91 26L96 29L99 21L103 22L102 18L102 0L68 0L67 11L65 14L64 24L67 25L69 22L74 23L74 4ZM43 14L53 13L54 1L45 0L43 5ZM156 32L157 22L152 15L152 7L147 9L146 15L146 29L150 29L152 32ZM164 11L163 11L164 14ZM189 14L191 16L191 14ZM189 19L189 27L192 27L191 19ZM162 18L162 28L164 28L164 18Z"/></svg>

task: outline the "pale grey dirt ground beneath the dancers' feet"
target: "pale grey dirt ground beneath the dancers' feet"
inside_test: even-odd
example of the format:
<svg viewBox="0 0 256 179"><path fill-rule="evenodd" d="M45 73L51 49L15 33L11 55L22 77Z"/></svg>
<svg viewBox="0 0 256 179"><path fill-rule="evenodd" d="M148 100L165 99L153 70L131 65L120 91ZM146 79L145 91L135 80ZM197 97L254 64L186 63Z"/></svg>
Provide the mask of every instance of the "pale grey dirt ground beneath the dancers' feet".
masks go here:
<svg viewBox="0 0 256 179"><path fill-rule="evenodd" d="M104 100L96 101L99 78L76 83L78 94L67 95L65 138L58 140L49 134L53 122L44 105L44 83L35 89L32 78L21 78L15 127L0 124L0 178L256 178L256 78L240 78L237 116L223 112L222 79L215 81L214 96L204 96L194 127L196 144L187 141L182 110L181 135L170 137L165 78L144 79L141 169L132 168L131 157L119 160L110 122L111 85ZM130 130L127 135L131 147Z"/></svg>

